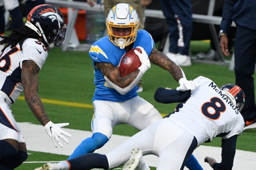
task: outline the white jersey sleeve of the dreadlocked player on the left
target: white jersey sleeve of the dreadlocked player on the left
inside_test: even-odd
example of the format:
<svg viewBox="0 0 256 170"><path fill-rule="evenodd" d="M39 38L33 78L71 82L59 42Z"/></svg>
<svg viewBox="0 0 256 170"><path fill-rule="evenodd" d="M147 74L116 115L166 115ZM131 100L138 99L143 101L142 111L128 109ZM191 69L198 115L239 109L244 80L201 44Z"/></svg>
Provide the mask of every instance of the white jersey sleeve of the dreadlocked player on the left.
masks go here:
<svg viewBox="0 0 256 170"><path fill-rule="evenodd" d="M27 39L22 44L22 59L34 61L41 69L47 58L47 48L45 45L36 39ZM22 64L20 65L22 67Z"/></svg>

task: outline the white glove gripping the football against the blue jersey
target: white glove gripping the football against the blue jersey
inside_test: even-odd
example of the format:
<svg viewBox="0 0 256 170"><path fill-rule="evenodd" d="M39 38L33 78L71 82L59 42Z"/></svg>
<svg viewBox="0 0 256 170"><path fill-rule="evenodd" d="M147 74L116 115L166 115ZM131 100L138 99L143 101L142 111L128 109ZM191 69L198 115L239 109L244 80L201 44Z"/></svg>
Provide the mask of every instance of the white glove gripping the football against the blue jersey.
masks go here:
<svg viewBox="0 0 256 170"><path fill-rule="evenodd" d="M139 48L142 51L142 53L140 53L139 51L134 50L134 53L136 53L136 55L138 55L140 62L141 62L141 66L138 69L140 71L142 71L142 73L144 74L151 66L149 58L148 58L148 54L146 53L144 48L142 48L142 47L136 47L136 48Z"/></svg>

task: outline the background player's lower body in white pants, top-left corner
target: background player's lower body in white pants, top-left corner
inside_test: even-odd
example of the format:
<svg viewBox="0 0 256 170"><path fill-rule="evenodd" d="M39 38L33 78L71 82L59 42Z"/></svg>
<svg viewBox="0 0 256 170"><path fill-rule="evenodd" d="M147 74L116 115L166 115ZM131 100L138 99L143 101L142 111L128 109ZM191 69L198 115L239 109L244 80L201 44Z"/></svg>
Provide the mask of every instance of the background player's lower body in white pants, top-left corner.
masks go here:
<svg viewBox="0 0 256 170"><path fill-rule="evenodd" d="M4 9L10 12L12 18L12 29L19 29L23 26L22 12L20 10L18 0L0 0L0 36L4 36L5 18ZM0 41L2 38L0 37ZM0 51L4 48L4 44L0 45Z"/></svg>

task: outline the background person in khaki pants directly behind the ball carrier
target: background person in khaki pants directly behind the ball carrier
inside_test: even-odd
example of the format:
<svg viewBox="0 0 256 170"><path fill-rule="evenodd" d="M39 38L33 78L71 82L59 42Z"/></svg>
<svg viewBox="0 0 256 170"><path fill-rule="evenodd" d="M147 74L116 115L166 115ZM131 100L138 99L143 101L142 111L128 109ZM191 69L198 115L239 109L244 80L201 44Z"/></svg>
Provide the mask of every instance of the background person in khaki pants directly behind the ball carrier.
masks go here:
<svg viewBox="0 0 256 170"><path fill-rule="evenodd" d="M90 6L94 6L96 3L96 0L87 0L88 4ZM150 4L152 0L104 0L104 13L105 16L108 17L108 12L111 10L113 6L119 3L128 3L130 6L132 6L138 13L139 19L140 19L140 30L144 29L144 12L145 12L145 6ZM143 91L142 87L142 79L138 83L139 89L137 90L138 93Z"/></svg>

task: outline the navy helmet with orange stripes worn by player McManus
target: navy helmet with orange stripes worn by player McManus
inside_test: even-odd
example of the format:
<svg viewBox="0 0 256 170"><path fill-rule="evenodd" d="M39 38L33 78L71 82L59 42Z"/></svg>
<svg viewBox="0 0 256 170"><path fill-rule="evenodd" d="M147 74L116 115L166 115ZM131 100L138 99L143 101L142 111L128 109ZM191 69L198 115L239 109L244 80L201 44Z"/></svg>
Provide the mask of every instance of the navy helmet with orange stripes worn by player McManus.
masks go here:
<svg viewBox="0 0 256 170"><path fill-rule="evenodd" d="M238 111L242 110L245 102L245 95L244 91L238 85L226 84L220 87L220 90L226 97L228 97L228 99L230 99Z"/></svg>

